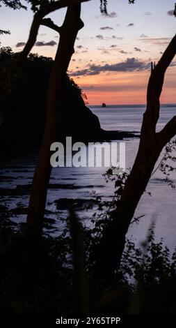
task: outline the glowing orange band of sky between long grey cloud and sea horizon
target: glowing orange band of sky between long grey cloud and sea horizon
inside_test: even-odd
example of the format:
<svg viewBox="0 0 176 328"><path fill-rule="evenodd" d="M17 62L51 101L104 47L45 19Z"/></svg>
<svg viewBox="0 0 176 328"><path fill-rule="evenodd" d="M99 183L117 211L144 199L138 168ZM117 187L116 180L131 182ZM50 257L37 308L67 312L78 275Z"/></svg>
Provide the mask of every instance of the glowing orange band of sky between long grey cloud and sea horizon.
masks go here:
<svg viewBox="0 0 176 328"><path fill-rule="evenodd" d="M176 103L175 95L176 68L168 68L161 103ZM136 73L100 73L95 76L74 77L88 97L90 105L132 105L145 104L147 82L150 71ZM111 84L109 84L111 80Z"/></svg>

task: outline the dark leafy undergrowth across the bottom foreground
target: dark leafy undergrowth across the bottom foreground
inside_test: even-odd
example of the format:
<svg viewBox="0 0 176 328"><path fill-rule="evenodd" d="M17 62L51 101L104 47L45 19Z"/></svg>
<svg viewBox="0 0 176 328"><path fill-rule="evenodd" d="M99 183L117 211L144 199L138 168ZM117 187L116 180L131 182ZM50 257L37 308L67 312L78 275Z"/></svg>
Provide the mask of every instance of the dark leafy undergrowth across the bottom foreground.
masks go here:
<svg viewBox="0 0 176 328"><path fill-rule="evenodd" d="M82 247L86 250L92 232L83 226L81 230ZM59 237L43 237L35 270L26 257L25 245L24 228L13 230L7 225L1 226L0 311L8 314L79 313L79 308L75 308L77 277L73 272L74 252L77 251L72 246L70 221ZM117 308L120 313L176 311L176 252L171 256L163 241L155 242L153 230L140 248L127 241L120 270L111 283L91 278L88 252L86 271L91 312L115 313Z"/></svg>

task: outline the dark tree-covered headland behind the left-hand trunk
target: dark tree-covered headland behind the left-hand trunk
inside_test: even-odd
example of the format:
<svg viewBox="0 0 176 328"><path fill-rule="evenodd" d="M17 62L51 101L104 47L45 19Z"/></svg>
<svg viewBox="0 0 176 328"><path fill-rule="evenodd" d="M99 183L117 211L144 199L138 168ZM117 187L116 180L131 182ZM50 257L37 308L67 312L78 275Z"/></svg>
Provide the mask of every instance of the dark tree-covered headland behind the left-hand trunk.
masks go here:
<svg viewBox="0 0 176 328"><path fill-rule="evenodd" d="M4 140L1 151L8 147L14 151L17 147L37 148L45 125L47 86L53 59L29 54L22 68L15 69L16 56L10 47L0 49L0 136ZM98 119L95 122L96 117L85 106L86 96L68 75L65 75L62 91L65 108L63 133L68 131L70 134L67 135L80 133L80 138L88 137L91 124L93 127L99 122Z"/></svg>

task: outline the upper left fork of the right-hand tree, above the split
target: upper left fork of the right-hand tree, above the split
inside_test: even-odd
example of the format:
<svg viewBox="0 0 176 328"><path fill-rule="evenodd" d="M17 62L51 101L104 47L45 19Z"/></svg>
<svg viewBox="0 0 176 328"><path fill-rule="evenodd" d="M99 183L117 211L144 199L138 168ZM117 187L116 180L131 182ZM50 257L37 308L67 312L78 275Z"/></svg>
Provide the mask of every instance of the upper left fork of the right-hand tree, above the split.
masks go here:
<svg viewBox="0 0 176 328"><path fill-rule="evenodd" d="M147 87L147 110L144 114L142 131L144 135L155 133L157 121L159 119L160 103L159 98L163 88L164 75L166 69L176 54L176 35L163 53L159 63L152 69Z"/></svg>

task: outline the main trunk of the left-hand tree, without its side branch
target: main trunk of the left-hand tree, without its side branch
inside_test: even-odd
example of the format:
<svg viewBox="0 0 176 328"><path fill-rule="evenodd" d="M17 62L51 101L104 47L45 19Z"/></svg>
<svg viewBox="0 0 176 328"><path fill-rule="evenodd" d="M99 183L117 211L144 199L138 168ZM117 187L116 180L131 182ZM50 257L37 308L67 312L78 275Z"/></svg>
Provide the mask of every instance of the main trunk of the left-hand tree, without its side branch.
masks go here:
<svg viewBox="0 0 176 328"><path fill-rule="evenodd" d="M45 213L49 177L51 174L50 147L53 142L56 140L58 141L58 131L60 130L62 122L60 100L63 78L67 72L72 54L74 53L74 42L77 33L79 29L83 27L80 13L80 4L67 8L65 21L60 28L60 41L56 58L51 69L47 96L45 132L38 155L38 162L35 167L26 223L27 235L31 241L38 241L42 236L42 222Z"/></svg>

